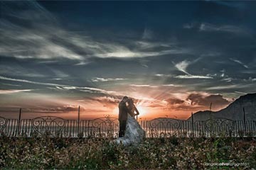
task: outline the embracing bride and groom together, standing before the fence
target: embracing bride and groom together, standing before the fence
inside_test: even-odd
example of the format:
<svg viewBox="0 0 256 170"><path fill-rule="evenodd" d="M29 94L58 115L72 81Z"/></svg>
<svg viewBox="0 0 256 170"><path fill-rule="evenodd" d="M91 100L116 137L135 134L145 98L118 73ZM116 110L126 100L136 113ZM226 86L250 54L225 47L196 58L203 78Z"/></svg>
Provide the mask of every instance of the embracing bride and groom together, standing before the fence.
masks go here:
<svg viewBox="0 0 256 170"><path fill-rule="evenodd" d="M135 115L139 115L139 111L134 105L132 98L124 96L122 101L119 102L119 138L117 143L123 145L136 145L142 142L146 137L146 132L139 125L134 118Z"/></svg>

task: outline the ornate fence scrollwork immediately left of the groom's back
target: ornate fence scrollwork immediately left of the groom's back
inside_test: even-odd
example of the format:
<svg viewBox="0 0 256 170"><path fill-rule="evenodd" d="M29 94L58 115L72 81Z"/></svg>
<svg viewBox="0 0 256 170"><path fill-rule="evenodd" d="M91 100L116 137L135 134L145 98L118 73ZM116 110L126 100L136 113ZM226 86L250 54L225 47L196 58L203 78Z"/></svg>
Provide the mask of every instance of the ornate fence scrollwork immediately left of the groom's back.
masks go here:
<svg viewBox="0 0 256 170"><path fill-rule="evenodd" d="M92 137L117 137L119 123L117 118L97 118L90 120L90 136Z"/></svg>

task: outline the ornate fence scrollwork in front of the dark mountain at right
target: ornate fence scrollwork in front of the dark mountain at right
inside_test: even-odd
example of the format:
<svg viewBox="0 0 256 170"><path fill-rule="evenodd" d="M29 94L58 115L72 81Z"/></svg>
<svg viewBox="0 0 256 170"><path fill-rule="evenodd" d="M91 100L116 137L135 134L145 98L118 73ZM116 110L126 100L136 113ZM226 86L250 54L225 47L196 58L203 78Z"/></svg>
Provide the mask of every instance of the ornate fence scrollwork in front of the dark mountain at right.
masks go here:
<svg viewBox="0 0 256 170"><path fill-rule="evenodd" d="M227 118L212 118L204 122L207 132L210 135L231 136L235 128L235 121Z"/></svg>

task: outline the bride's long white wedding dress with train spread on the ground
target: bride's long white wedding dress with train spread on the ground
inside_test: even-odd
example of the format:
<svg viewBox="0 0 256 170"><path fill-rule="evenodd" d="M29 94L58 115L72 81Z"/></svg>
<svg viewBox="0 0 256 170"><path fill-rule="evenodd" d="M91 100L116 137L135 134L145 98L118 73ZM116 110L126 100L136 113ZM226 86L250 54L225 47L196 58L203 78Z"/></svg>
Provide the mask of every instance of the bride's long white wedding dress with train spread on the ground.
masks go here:
<svg viewBox="0 0 256 170"><path fill-rule="evenodd" d="M122 142L122 145L138 145L139 142L146 137L146 132L139 125L137 120L128 114L127 125L124 133L124 137L119 137L115 140L118 144Z"/></svg>

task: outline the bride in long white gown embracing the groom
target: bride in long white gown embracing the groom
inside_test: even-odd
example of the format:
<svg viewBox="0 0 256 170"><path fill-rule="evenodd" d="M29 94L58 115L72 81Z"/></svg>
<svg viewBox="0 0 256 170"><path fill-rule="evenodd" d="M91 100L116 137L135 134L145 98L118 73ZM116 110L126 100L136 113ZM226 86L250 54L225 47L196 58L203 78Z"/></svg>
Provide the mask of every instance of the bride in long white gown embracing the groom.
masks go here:
<svg viewBox="0 0 256 170"><path fill-rule="evenodd" d="M127 115L127 124L124 137L119 137L116 142L122 142L124 146L137 145L139 142L142 142L144 137L146 137L146 132L142 129L137 120L134 118L135 115L139 115L139 111L134 105L134 101L132 100L132 98L128 98L127 104L129 114Z"/></svg>

